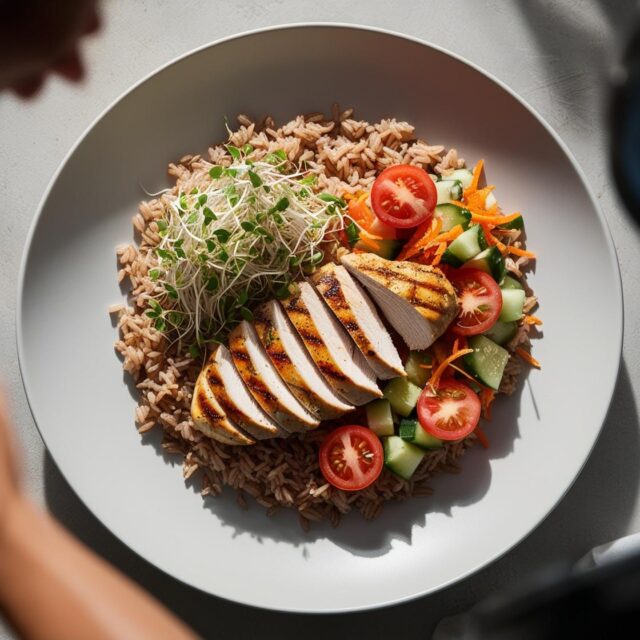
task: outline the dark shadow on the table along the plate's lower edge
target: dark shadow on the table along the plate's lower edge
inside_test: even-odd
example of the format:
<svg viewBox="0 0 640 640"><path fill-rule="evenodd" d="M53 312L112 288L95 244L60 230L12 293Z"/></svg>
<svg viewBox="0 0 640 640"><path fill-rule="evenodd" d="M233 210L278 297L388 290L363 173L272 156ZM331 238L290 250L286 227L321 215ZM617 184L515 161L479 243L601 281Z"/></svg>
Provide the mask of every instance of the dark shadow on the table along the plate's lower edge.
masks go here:
<svg viewBox="0 0 640 640"><path fill-rule="evenodd" d="M526 391L525 391L526 392ZM575 560L597 544L627 533L636 503L640 469L638 413L626 364L622 362L612 400L616 416L605 422L585 469L556 509L528 538L505 557L478 574L426 598L390 609L343 615L282 614L230 603L188 587L159 571L130 551L84 507L45 457L45 495L53 514L78 538L154 594L203 637L294 638L304 624L306 638L335 633L359 636L363 629L375 637L429 637L437 620L431 612L455 613L493 590L518 582L541 566ZM621 491L620 487L627 490ZM577 554L577 555L576 555Z"/></svg>

